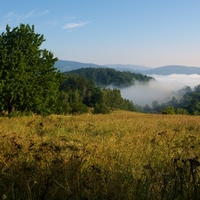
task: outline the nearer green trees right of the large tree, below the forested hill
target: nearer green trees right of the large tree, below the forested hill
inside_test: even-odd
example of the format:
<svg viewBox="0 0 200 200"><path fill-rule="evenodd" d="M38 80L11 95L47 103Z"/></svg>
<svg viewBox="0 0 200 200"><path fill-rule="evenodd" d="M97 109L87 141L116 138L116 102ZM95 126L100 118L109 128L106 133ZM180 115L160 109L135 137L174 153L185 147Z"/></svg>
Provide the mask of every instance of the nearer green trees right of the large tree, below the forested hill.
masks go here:
<svg viewBox="0 0 200 200"><path fill-rule="evenodd" d="M84 76L70 74L60 86L60 113L92 111L110 113L112 109L135 111L134 104L121 97L118 89L101 89Z"/></svg>

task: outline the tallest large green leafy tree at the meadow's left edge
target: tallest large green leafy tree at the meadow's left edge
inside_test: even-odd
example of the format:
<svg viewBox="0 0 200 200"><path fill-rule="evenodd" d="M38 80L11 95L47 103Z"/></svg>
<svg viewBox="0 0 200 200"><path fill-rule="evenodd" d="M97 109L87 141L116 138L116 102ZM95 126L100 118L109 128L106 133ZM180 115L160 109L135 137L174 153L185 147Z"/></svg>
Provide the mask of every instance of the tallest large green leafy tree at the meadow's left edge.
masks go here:
<svg viewBox="0 0 200 200"><path fill-rule="evenodd" d="M57 58L40 49L44 35L21 24L0 35L0 110L52 113L56 110L62 74Z"/></svg>

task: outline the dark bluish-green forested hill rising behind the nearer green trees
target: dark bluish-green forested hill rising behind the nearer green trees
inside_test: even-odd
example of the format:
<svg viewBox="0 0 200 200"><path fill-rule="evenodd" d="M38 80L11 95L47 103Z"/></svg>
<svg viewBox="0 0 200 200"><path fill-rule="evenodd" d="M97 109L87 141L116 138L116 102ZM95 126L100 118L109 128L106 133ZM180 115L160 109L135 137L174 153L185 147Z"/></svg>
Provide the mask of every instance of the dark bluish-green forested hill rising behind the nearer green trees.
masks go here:
<svg viewBox="0 0 200 200"><path fill-rule="evenodd" d="M77 74L87 79L91 79L98 86L114 85L117 87L127 87L133 85L135 81L147 83L154 78L138 73L120 72L112 68L81 68L64 72L65 75Z"/></svg>

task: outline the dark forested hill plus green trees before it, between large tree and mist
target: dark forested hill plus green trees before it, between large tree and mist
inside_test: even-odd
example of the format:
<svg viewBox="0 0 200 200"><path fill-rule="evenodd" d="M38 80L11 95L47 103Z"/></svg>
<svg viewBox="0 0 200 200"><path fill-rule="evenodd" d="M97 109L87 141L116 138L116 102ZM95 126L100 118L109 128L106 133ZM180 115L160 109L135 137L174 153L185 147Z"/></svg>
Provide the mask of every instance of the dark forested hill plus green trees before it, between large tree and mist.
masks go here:
<svg viewBox="0 0 200 200"><path fill-rule="evenodd" d="M151 77L111 68L81 68L64 72L60 86L60 112L65 114L110 113L113 109L136 111L132 101L121 96L120 87L147 83ZM110 89L108 86L116 88Z"/></svg>

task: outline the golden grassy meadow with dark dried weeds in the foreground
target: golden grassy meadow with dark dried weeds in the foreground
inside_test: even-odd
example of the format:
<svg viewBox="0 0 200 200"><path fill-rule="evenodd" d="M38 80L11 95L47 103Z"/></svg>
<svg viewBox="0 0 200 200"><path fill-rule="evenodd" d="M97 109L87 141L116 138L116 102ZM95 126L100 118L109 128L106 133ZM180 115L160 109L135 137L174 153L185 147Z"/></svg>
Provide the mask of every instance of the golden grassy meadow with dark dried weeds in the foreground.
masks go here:
<svg viewBox="0 0 200 200"><path fill-rule="evenodd" d="M0 198L200 199L200 116L0 118Z"/></svg>

